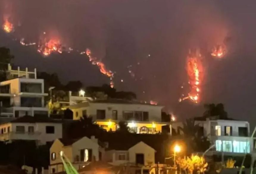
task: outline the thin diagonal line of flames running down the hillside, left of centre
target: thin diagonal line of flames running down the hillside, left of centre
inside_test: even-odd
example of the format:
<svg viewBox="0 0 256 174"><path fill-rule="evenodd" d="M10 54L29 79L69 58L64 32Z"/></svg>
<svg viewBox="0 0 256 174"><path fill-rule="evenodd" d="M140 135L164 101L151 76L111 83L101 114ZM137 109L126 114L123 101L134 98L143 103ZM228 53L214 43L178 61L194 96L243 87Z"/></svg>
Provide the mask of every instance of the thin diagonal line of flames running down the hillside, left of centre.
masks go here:
<svg viewBox="0 0 256 174"><path fill-rule="evenodd" d="M114 73L111 70L107 70L107 68L103 62L98 61L96 57L92 57L90 49L87 48L84 52L81 52L80 54L86 54L89 57L89 61L92 62L93 65L97 65L99 67L100 72L110 78L110 87L113 88L114 87L114 82L113 82Z"/></svg>

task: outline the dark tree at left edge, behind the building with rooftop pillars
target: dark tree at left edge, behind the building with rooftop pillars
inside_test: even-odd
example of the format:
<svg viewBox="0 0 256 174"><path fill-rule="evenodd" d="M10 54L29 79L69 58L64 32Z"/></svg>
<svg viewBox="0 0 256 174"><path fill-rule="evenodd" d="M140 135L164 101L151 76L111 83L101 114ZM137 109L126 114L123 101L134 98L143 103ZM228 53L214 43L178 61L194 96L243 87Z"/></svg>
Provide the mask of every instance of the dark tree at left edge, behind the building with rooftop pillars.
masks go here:
<svg viewBox="0 0 256 174"><path fill-rule="evenodd" d="M0 47L0 81L6 80L7 64L11 62L14 56L9 48Z"/></svg>

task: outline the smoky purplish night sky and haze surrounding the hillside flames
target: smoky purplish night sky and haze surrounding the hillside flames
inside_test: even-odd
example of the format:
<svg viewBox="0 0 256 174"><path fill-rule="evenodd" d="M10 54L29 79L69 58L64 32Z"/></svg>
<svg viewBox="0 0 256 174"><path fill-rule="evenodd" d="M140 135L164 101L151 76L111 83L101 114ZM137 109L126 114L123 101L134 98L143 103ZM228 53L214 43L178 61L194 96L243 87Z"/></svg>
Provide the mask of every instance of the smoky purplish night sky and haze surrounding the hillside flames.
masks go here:
<svg viewBox="0 0 256 174"><path fill-rule="evenodd" d="M76 51L90 48L115 72L117 90L157 101L179 120L202 115L205 103L221 102L229 117L255 125L255 7L256 1L241 0L0 0L1 25L7 17L15 27L10 34L0 31L0 46L11 49L15 65L56 72L63 83L109 83L88 57ZM74 51L43 57L36 46L21 46L14 40L38 42L43 32ZM219 43L228 49L223 59L210 56ZM200 48L203 56L199 104L178 102L189 90L185 70L189 48Z"/></svg>

